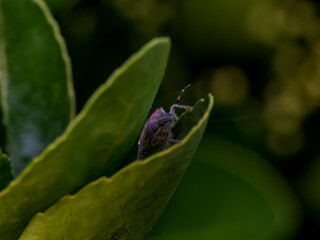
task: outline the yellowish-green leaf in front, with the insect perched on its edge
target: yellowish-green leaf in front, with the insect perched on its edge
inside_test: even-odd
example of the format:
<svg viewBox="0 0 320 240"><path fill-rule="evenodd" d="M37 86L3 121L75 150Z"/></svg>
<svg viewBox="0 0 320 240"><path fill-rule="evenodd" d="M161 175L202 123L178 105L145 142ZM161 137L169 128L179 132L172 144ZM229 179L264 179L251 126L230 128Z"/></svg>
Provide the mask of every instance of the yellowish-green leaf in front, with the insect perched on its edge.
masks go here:
<svg viewBox="0 0 320 240"><path fill-rule="evenodd" d="M212 96L193 111L194 125L181 143L137 160L110 179L102 177L74 196L37 214L20 240L143 239L160 216L188 167L204 132ZM121 236L121 237L120 237Z"/></svg>

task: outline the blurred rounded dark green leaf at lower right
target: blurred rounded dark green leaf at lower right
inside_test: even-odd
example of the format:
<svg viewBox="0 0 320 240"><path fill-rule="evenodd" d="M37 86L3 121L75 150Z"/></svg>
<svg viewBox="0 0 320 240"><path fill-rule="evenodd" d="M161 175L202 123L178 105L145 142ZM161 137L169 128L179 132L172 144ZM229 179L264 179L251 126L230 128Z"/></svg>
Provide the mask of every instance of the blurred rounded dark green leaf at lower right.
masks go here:
<svg viewBox="0 0 320 240"><path fill-rule="evenodd" d="M291 239L300 205L288 183L256 154L206 136L150 240Z"/></svg>

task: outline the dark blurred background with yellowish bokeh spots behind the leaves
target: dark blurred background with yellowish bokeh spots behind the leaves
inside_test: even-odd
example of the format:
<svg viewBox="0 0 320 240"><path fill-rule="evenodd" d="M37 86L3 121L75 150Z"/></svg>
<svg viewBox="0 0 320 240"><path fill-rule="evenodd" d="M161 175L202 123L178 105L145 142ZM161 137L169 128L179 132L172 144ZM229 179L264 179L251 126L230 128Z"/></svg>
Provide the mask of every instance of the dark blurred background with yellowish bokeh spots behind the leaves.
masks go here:
<svg viewBox="0 0 320 240"><path fill-rule="evenodd" d="M279 171L302 209L297 217L300 224L291 230L294 235L291 239L317 239L320 228L317 2L47 0L47 3L59 22L71 56L78 111L112 71L144 43L155 36L170 36L171 56L153 109L162 106L168 110L188 83L192 87L182 97L183 104L193 105L211 92L215 106L205 138L218 136L254 151L274 171ZM241 157L237 161L241 164ZM312 234L315 238L310 238Z"/></svg>

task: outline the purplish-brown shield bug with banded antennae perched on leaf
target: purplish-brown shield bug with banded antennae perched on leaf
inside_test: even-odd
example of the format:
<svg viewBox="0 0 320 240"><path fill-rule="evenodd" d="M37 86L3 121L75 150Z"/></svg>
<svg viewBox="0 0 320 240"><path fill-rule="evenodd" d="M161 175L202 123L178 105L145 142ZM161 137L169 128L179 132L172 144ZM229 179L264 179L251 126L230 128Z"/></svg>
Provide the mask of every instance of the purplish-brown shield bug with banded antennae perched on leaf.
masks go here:
<svg viewBox="0 0 320 240"><path fill-rule="evenodd" d="M191 84L181 90L176 103L170 107L170 112L165 112L163 108L158 108L146 121L138 142L138 159L154 153L160 147L165 150L171 144L180 142L180 140L173 139L171 129L178 120L178 116L175 113L176 108L192 109L191 106L178 104L182 94L190 86Z"/></svg>

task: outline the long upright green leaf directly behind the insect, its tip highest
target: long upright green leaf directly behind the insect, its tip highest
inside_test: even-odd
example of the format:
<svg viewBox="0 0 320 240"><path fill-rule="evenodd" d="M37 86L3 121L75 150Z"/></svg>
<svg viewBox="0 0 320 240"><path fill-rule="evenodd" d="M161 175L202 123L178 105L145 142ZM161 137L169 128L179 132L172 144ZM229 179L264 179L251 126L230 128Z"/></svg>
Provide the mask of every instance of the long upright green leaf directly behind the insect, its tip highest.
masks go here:
<svg viewBox="0 0 320 240"><path fill-rule="evenodd" d="M118 167L147 117L169 49L169 39L155 39L126 61L0 195L1 240L19 236L34 214Z"/></svg>

